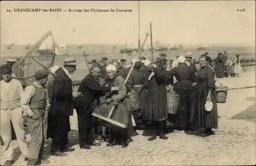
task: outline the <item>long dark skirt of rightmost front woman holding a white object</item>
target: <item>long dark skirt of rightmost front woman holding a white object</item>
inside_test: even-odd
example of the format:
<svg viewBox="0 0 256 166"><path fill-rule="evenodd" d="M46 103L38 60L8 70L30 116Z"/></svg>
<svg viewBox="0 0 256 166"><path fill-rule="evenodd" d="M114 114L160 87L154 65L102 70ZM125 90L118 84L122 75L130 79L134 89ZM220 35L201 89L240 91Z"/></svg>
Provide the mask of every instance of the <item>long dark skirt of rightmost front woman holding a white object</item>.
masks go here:
<svg viewBox="0 0 256 166"><path fill-rule="evenodd" d="M218 111L216 91L211 92L212 110L205 110L205 102L208 91L206 82L198 82L191 92L191 116L190 125L193 128L218 128Z"/></svg>

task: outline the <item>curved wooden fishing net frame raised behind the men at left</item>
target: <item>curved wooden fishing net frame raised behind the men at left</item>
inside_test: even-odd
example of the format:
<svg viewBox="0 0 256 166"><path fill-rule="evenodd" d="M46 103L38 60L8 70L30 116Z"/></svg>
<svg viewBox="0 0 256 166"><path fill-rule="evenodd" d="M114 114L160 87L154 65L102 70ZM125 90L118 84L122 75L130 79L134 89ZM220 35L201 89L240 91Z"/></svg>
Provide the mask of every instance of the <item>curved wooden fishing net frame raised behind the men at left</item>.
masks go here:
<svg viewBox="0 0 256 166"><path fill-rule="evenodd" d="M51 62L49 64L47 64L47 66L45 66L44 64L41 64L40 63L40 60L37 60L33 55L32 55L32 52L34 50L36 50L42 42L44 42L48 36L51 36L52 38L52 41L53 41L53 47L51 49L53 49L53 55L52 55L52 59L51 59ZM30 65L30 58L34 59L35 62L37 62L40 66L42 66L44 69L48 70L48 72L50 74L52 74L49 70L49 67L51 67L55 61L55 41L54 41L54 37L52 35L52 31L48 31L44 36L42 36L33 46L30 47L30 49L12 66L12 71L19 67L18 65L20 63L22 63L23 61L25 61L25 59L29 56L29 64ZM39 59L40 59L40 55L39 55ZM36 64L35 64L35 67L36 67ZM36 68L35 68L36 69ZM29 74L29 66L28 66L28 74ZM27 77L16 77L15 79L18 79L18 80L28 80L29 78L33 78L35 77L35 75L32 75L32 76L27 76Z"/></svg>

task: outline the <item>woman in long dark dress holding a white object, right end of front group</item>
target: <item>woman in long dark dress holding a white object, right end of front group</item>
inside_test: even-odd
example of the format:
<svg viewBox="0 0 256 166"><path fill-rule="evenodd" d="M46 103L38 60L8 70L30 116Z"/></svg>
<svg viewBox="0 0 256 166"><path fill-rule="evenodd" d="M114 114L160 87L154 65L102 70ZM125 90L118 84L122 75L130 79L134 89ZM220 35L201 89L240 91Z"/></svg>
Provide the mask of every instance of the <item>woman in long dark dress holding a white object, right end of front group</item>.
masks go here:
<svg viewBox="0 0 256 166"><path fill-rule="evenodd" d="M206 128L199 136L209 136L215 134L211 129L218 128L217 98L215 73L207 62L206 56L199 58L201 69L198 71L198 82L194 83L191 92L191 127ZM212 109L206 111L206 102L211 101Z"/></svg>

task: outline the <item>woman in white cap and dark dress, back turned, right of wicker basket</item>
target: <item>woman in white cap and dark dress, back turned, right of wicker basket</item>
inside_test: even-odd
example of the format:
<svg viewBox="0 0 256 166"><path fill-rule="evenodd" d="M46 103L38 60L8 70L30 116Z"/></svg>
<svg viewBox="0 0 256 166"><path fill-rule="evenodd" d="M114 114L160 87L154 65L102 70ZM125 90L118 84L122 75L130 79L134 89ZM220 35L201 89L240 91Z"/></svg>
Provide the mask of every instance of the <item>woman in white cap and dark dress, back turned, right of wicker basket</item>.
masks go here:
<svg viewBox="0 0 256 166"><path fill-rule="evenodd" d="M180 103L177 112L176 125L178 130L190 129L189 126L189 104L191 100L191 86L197 82L196 73L193 68L185 63L186 58L179 56L178 66L170 72L177 78L174 84L174 91L180 96Z"/></svg>

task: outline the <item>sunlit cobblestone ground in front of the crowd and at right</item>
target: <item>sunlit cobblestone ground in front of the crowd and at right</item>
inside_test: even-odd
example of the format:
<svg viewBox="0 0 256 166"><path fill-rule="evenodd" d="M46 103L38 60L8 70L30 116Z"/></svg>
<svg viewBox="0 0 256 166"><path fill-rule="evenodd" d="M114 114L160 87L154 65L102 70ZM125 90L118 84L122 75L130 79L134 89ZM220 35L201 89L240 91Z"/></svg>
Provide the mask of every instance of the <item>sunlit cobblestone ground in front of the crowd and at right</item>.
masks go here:
<svg viewBox="0 0 256 166"><path fill-rule="evenodd" d="M255 73L220 81L228 87L255 85ZM103 143L91 150L81 150L78 144L77 117L71 117L70 144L76 150L67 157L50 156L51 141L46 141L47 165L251 165L255 164L255 88L228 91L227 102L218 104L219 128L216 135L198 137L174 131L168 140L147 141L134 136L134 141L122 149ZM142 132L138 131L140 134ZM29 137L28 137L29 139ZM17 147L17 141L13 141ZM14 165L26 165L15 149ZM1 164L5 162L1 155Z"/></svg>

